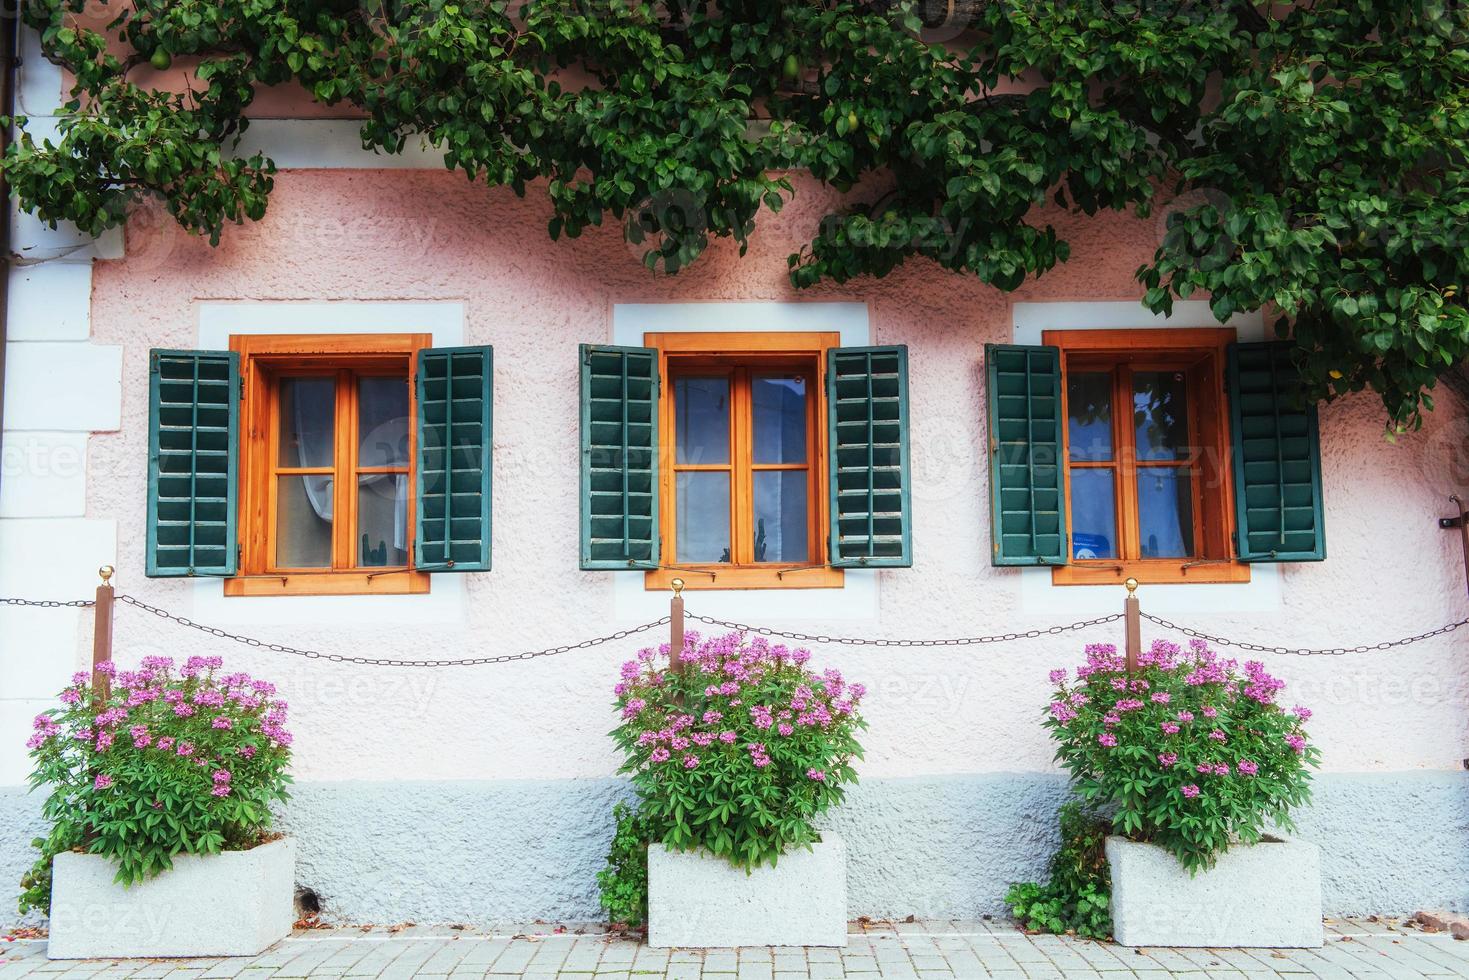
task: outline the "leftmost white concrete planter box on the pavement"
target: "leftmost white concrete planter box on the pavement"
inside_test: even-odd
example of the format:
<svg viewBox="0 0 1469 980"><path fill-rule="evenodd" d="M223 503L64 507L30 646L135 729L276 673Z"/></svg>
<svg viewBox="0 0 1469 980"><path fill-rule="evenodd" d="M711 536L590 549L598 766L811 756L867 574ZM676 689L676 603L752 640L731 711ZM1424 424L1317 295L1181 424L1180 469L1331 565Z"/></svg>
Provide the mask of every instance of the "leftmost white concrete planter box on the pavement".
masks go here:
<svg viewBox="0 0 1469 980"><path fill-rule="evenodd" d="M51 862L51 959L253 956L295 921L295 842L289 837L207 857L125 887L95 854Z"/></svg>

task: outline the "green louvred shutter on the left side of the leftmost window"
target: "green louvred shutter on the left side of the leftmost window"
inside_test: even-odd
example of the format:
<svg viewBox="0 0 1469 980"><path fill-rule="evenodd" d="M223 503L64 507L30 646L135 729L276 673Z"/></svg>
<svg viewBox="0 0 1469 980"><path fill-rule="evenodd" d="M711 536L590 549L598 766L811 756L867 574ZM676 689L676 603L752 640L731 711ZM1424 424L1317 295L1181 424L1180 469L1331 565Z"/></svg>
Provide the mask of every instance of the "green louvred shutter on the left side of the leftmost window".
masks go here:
<svg viewBox="0 0 1469 980"><path fill-rule="evenodd" d="M147 574L235 574L239 354L148 353Z"/></svg>

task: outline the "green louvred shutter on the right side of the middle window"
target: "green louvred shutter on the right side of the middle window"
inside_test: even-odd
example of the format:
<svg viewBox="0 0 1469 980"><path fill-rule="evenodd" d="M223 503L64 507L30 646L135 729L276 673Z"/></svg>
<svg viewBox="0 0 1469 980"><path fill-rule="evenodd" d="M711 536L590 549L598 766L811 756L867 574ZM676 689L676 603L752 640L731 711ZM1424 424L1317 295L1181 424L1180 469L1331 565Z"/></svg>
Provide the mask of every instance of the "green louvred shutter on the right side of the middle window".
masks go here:
<svg viewBox="0 0 1469 980"><path fill-rule="evenodd" d="M911 567L908 348L834 347L826 383L831 567Z"/></svg>

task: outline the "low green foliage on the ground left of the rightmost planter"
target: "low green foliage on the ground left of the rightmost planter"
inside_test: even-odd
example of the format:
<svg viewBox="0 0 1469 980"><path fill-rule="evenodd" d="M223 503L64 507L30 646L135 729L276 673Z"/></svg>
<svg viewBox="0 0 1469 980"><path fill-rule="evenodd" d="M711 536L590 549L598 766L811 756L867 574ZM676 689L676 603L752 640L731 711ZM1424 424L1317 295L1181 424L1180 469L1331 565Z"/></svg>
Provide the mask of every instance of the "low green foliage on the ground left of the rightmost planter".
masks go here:
<svg viewBox="0 0 1469 980"><path fill-rule="evenodd" d="M1046 883L1017 882L1005 904L1025 929L1106 939L1112 934L1111 823L1075 799L1062 804L1059 821L1061 846L1050 858Z"/></svg>

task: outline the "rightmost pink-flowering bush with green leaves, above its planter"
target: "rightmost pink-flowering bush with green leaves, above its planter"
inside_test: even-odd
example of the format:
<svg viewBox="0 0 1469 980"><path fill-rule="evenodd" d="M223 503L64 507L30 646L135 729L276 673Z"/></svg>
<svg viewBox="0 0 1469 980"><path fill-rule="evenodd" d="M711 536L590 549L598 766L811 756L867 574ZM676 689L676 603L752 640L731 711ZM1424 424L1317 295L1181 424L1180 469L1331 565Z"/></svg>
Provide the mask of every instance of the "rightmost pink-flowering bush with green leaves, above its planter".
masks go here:
<svg viewBox="0 0 1469 980"><path fill-rule="evenodd" d="M1191 871L1272 823L1291 829L1290 810L1310 799L1310 711L1282 708L1284 682L1257 661L1158 641L1127 673L1116 648L1097 644L1074 680L1065 670L1050 679L1046 727L1077 792L1112 813L1118 833L1168 848Z"/></svg>

